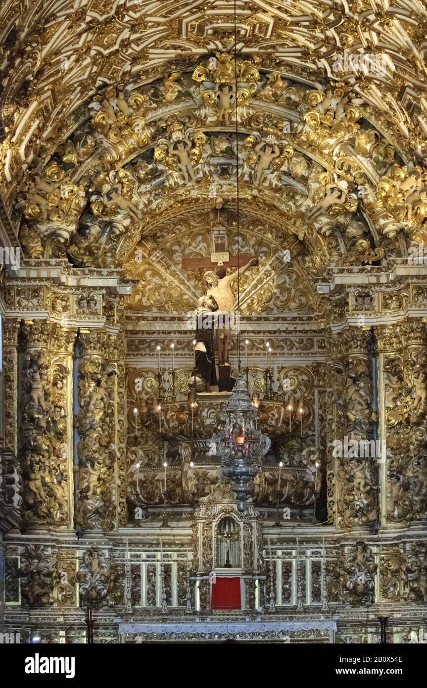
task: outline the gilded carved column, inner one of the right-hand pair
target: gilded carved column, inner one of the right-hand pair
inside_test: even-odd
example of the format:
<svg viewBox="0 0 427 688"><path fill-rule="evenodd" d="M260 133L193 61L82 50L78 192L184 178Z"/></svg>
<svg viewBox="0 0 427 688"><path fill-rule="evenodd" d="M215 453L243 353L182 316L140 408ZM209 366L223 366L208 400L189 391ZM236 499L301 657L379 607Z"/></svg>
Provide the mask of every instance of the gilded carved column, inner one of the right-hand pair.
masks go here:
<svg viewBox="0 0 427 688"><path fill-rule="evenodd" d="M327 486L329 522L377 523L377 442L369 330L329 336Z"/></svg>

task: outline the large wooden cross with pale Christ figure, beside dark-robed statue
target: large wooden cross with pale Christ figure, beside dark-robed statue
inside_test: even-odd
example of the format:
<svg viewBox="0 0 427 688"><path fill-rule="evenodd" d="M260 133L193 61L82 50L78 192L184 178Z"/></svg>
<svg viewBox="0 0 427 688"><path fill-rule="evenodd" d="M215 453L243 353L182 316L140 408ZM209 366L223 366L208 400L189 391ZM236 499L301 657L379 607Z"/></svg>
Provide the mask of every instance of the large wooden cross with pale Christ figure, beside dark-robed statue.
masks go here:
<svg viewBox="0 0 427 688"><path fill-rule="evenodd" d="M219 369L219 390L232 389L234 380L230 378L230 363L228 352L230 349L230 335L239 325L239 314L234 312L235 299L230 284L243 272L256 266L258 259L249 253L231 256L227 249L228 223L227 211L223 209L223 200L215 199L215 208L210 211L210 257L199 257L192 254L183 257L182 266L190 270L208 268L204 272L206 284L206 299L214 299L217 312L221 314L222 327L216 329L216 343ZM227 275L227 268L237 267ZM209 300L208 303L212 305ZM215 310L215 309L212 309Z"/></svg>

